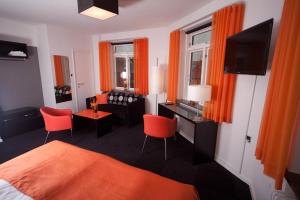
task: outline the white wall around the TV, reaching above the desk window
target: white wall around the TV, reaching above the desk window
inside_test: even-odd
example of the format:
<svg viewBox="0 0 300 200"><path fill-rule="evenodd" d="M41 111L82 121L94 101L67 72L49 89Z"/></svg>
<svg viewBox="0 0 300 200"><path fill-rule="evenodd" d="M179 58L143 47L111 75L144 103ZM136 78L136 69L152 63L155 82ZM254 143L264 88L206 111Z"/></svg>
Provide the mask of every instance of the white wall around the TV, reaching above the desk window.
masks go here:
<svg viewBox="0 0 300 200"><path fill-rule="evenodd" d="M239 1L215 0L173 23L169 31L189 26L234 2ZM275 20L269 59L271 61L283 0L244 0L244 2L246 4L244 29L269 18L274 18ZM254 152L269 80L269 71L265 76L257 77L257 81L255 79L255 76L238 75L233 107L233 122L231 124L222 123L219 126L216 160L251 185L254 199L265 200L271 199L274 191L274 181L263 175L262 165L255 159ZM251 143L245 143L246 134L252 137Z"/></svg>

